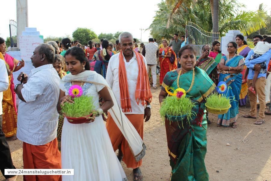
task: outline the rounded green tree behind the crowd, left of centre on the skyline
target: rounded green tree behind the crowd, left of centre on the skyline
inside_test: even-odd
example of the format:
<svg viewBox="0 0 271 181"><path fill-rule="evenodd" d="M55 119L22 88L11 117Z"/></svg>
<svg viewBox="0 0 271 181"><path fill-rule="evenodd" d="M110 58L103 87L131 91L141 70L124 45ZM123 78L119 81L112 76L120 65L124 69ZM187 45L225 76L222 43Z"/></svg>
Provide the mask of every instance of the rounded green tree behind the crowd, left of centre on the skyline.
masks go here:
<svg viewBox="0 0 271 181"><path fill-rule="evenodd" d="M97 38L97 35L88 28L77 28L73 31L73 39L78 40L82 45L88 43L89 40Z"/></svg>

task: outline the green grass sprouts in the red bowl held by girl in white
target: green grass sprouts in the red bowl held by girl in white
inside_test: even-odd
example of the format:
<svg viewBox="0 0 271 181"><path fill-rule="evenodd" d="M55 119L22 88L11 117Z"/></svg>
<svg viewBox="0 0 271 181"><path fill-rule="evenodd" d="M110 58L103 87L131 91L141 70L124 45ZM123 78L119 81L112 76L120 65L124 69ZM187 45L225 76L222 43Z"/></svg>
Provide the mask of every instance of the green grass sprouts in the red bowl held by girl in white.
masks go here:
<svg viewBox="0 0 271 181"><path fill-rule="evenodd" d="M88 116L95 110L94 101L91 96L82 95L73 99L74 103L64 103L61 105L62 112L68 117L83 117Z"/></svg>

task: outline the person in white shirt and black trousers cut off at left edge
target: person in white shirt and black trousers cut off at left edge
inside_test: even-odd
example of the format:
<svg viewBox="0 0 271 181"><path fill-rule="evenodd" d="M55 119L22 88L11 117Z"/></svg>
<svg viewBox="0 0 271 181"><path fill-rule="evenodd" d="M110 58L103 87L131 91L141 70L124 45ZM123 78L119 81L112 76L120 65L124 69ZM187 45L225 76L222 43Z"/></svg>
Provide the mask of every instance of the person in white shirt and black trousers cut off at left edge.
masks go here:
<svg viewBox="0 0 271 181"><path fill-rule="evenodd" d="M1 52L0 55L2 56ZM5 61L0 59L0 170L7 181L16 180L17 176L5 175L5 169L16 169L12 163L10 149L2 130L2 99L3 91L8 90L8 72Z"/></svg>

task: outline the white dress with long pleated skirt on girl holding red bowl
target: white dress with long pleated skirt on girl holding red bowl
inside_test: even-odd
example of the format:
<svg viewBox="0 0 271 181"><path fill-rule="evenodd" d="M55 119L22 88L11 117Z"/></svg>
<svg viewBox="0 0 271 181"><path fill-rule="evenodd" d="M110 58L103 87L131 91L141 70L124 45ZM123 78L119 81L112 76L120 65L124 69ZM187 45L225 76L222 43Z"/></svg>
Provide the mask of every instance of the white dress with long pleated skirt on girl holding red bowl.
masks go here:
<svg viewBox="0 0 271 181"><path fill-rule="evenodd" d="M93 74L88 81L106 84L99 74ZM60 89L68 94L71 82L61 83ZM98 92L102 85L85 83L83 94L93 97L99 108ZM74 169L74 175L62 175L62 180L123 181L127 180L123 168L113 150L102 116L94 122L71 124L64 118L61 135L62 169Z"/></svg>

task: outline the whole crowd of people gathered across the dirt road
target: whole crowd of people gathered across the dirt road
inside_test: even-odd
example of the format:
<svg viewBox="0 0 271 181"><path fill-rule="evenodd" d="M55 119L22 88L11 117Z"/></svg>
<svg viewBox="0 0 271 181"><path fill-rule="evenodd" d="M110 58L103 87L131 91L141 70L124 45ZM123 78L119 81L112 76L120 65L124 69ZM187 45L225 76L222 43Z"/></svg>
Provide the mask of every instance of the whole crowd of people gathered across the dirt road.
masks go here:
<svg viewBox="0 0 271 181"><path fill-rule="evenodd" d="M221 53L218 40L211 47L202 46L198 56L185 35L179 39L174 34L170 43L161 40L160 45L154 38L148 42L138 46L129 32L121 33L115 43L103 39L85 45L69 38L49 41L35 48L31 57L35 68L30 75L21 72L17 78L21 83L14 85L12 73L19 71L24 61L6 53L5 40L0 38L3 175L5 169L15 168L6 140L18 138L23 141L24 169L74 169L74 175L24 175L24 180L123 181L127 178L121 161L132 168L133 180L143 180L143 125L144 119L147 122L151 117L151 86L159 87L157 64L160 103L169 96L167 88L177 89L179 84L195 103L191 124L186 122L180 128L178 122L165 120L172 181L209 178L204 157L206 128L211 121L204 103L219 82L231 87L224 94L234 101L227 113L218 115L217 126L237 128L238 109L247 97L251 110L243 117L257 119L254 124L260 125L265 114L271 114L271 36L254 36L255 48L251 50L239 34L235 42L227 44L226 55ZM61 112L61 105L74 103L69 95L73 85L94 98L98 114L87 118L86 124L71 124ZM4 176L7 180L17 178Z"/></svg>

